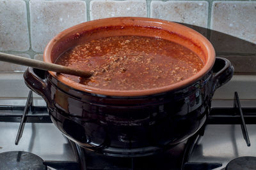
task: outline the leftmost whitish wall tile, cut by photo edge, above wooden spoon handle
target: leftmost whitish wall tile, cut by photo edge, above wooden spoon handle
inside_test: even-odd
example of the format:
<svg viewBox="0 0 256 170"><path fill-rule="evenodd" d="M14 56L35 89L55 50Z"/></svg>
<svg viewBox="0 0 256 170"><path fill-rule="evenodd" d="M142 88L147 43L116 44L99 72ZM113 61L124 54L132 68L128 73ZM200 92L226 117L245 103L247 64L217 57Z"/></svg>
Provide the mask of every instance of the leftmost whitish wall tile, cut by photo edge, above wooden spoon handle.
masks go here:
<svg viewBox="0 0 256 170"><path fill-rule="evenodd" d="M0 0L0 50L29 50L26 3L22 0Z"/></svg>

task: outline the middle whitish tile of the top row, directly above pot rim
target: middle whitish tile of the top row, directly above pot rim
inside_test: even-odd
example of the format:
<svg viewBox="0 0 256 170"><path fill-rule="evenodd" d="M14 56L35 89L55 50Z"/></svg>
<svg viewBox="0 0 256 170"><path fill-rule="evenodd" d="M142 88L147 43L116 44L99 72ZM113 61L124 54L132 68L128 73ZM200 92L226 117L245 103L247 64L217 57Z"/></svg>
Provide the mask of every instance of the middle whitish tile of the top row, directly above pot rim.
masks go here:
<svg viewBox="0 0 256 170"><path fill-rule="evenodd" d="M91 20L108 17L147 17L146 1L91 1Z"/></svg>

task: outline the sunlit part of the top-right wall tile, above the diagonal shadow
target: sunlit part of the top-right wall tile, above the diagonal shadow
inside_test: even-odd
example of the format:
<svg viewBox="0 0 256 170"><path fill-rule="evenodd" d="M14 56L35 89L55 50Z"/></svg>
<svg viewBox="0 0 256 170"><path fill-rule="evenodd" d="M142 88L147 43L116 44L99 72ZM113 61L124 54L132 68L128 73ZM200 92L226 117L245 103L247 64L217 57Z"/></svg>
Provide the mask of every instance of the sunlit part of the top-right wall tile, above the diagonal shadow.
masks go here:
<svg viewBox="0 0 256 170"><path fill-rule="evenodd" d="M214 1L211 29L256 43L256 1Z"/></svg>

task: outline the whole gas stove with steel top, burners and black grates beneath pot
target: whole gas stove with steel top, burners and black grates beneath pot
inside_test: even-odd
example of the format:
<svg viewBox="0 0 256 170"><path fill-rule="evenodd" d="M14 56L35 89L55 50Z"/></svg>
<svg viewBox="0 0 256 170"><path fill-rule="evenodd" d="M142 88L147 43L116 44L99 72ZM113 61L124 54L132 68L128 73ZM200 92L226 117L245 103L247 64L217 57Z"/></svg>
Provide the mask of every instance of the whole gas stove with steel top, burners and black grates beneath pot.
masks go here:
<svg viewBox="0 0 256 170"><path fill-rule="evenodd" d="M212 101L204 127L188 140L133 158L90 152L68 140L33 92L0 105L0 169L256 169L256 102L240 101L236 92L234 100Z"/></svg>

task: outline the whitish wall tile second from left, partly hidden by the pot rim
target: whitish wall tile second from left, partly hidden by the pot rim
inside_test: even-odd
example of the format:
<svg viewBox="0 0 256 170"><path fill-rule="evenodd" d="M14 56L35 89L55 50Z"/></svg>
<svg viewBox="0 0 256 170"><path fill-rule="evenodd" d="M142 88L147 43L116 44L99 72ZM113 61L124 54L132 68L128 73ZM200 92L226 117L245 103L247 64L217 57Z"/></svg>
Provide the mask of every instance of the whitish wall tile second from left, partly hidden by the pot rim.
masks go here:
<svg viewBox="0 0 256 170"><path fill-rule="evenodd" d="M84 1L29 1L32 50L44 52L58 32L85 22Z"/></svg>

